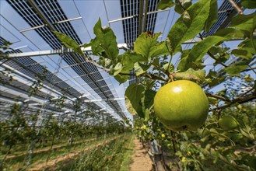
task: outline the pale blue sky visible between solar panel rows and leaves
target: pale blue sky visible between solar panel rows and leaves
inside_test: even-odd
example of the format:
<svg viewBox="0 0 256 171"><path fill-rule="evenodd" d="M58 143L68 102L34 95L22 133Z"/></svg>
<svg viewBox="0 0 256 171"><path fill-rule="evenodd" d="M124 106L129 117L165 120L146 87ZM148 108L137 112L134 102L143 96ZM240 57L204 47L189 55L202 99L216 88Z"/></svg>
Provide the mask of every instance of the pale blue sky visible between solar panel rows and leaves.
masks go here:
<svg viewBox="0 0 256 171"><path fill-rule="evenodd" d="M220 5L223 1L218 1ZM113 19L121 18L121 8L119 0L58 0L61 5L61 9L65 12L68 19L82 17L82 19L77 19L70 21L75 32L78 34L82 44L88 43L93 37L93 26L96 21L100 18L103 26L110 26L117 36L117 43L124 43L124 36L122 30L121 21L115 23L108 23L108 21ZM30 25L19 16L19 14L12 9L11 5L5 0L0 0L0 36L4 37L6 40L12 42L12 48L17 48L20 51L43 51L51 50L51 47L37 34L35 30L30 30L21 33L20 30L30 28ZM178 19L179 15L174 13L174 8L169 11L159 12L156 19L155 33L163 33L159 40L165 40L167 34L174 25L175 21ZM230 47L237 47L239 42L233 42L227 44ZM191 47L192 45L188 45ZM186 48L188 48L186 47ZM123 51L120 51L123 53ZM174 56L173 61L177 61L180 54ZM39 62L41 65L46 65L47 69L54 72L56 69L56 63L58 63L59 56L40 56L33 57L33 60ZM205 64L211 65L213 60L208 58ZM211 69L212 66L207 67L207 70ZM119 85L119 83L111 76L107 75L105 72L101 72L103 78L110 85L111 91L117 98L124 98L124 89L128 86L128 82ZM61 61L61 68L58 72L58 77L65 80L69 85L73 86L79 92L89 94L89 99L100 99L100 96L96 94L89 86L86 85L79 76L72 71L72 68L68 67L65 61ZM221 89L221 87L219 88ZM217 90L217 89L216 89ZM100 104L100 103L99 103ZM128 117L131 115L127 112L124 105L124 100L121 100L121 104L124 109L124 113ZM106 107L106 104L101 103L102 107ZM117 117L117 116L116 116Z"/></svg>

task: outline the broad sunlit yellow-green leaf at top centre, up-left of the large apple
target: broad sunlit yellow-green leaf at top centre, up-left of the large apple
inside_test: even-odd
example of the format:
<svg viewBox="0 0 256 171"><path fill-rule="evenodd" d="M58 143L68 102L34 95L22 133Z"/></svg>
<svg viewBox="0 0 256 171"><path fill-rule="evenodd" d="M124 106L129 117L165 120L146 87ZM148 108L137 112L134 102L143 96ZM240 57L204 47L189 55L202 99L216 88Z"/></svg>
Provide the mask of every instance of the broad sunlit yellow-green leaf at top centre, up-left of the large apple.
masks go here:
<svg viewBox="0 0 256 171"><path fill-rule="evenodd" d="M142 54L147 61L163 54L169 54L165 42L157 42L159 36L160 33L154 35L142 33L135 41L135 52Z"/></svg>

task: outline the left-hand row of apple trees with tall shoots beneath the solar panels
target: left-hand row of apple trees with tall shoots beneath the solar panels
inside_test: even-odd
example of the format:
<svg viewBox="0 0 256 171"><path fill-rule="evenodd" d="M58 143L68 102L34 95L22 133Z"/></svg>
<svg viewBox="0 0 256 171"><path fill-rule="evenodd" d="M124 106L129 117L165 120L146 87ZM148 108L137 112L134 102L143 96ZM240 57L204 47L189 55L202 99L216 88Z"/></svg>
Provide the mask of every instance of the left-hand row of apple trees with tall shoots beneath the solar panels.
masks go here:
<svg viewBox="0 0 256 171"><path fill-rule="evenodd" d="M1 46L0 52L4 54L9 49L8 42ZM5 58L2 59L5 62ZM0 63L0 67L3 63ZM36 75L28 89L24 89L29 97L39 96L40 89L44 86L47 75L47 68L44 72ZM12 71L2 68L0 71L0 85L12 86ZM121 134L129 130L124 126L124 122L117 121L103 111L93 110L81 99L76 99L72 103L74 113L63 113L63 108L67 107L68 89L62 90L62 96L57 99L48 99L42 107L31 107L30 103L17 99L16 103L2 103L5 106L1 109L0 116L0 169L4 167L8 155L13 152L30 153L30 157L24 159L30 163L33 152L40 148L54 145L67 144L72 142L85 141L89 138L100 138L111 134ZM53 107L51 112L47 111L47 106ZM70 106L68 106L70 108ZM26 157L26 156L24 156Z"/></svg>

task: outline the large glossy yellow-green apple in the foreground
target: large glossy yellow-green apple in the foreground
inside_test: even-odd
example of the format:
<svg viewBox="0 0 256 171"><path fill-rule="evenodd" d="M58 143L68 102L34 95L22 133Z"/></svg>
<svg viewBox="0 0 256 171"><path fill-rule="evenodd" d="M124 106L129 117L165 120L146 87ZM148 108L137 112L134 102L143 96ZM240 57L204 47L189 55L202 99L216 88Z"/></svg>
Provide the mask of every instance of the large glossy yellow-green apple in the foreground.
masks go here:
<svg viewBox="0 0 256 171"><path fill-rule="evenodd" d="M195 131L208 116L209 102L195 82L170 82L156 92L154 110L162 124L172 131Z"/></svg>

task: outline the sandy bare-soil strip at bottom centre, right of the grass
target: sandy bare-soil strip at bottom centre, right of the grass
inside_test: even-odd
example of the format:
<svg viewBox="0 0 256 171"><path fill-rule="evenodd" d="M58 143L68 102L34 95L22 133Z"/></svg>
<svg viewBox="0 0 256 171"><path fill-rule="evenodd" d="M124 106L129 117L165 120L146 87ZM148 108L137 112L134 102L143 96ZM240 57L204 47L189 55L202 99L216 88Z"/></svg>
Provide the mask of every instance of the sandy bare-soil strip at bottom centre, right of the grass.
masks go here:
<svg viewBox="0 0 256 171"><path fill-rule="evenodd" d="M135 139L135 153L132 155L133 163L130 166L130 171L151 171L153 169L153 162L149 158L149 154L142 143Z"/></svg>

